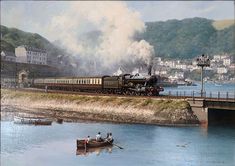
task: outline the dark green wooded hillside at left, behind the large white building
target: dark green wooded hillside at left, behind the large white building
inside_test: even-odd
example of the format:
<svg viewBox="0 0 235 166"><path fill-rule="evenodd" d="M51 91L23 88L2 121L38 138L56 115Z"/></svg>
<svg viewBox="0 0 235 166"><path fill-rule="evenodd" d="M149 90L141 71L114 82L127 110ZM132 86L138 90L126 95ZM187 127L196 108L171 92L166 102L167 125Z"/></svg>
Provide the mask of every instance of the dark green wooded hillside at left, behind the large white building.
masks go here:
<svg viewBox="0 0 235 166"><path fill-rule="evenodd" d="M73 57L66 50L56 44L51 43L46 38L37 33L24 32L16 28L8 28L1 25L1 51L15 52L15 48L20 45L46 49L48 53L48 64L61 68L60 75L73 74L76 68L71 66Z"/></svg>

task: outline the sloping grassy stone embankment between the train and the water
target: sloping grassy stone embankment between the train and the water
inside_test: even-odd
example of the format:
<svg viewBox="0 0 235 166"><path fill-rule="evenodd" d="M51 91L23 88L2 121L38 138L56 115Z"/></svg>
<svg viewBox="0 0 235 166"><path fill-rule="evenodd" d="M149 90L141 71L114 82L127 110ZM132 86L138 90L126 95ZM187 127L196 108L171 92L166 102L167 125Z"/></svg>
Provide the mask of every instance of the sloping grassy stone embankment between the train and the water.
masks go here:
<svg viewBox="0 0 235 166"><path fill-rule="evenodd" d="M1 112L25 112L70 121L159 125L198 124L184 100L88 96L1 90Z"/></svg>

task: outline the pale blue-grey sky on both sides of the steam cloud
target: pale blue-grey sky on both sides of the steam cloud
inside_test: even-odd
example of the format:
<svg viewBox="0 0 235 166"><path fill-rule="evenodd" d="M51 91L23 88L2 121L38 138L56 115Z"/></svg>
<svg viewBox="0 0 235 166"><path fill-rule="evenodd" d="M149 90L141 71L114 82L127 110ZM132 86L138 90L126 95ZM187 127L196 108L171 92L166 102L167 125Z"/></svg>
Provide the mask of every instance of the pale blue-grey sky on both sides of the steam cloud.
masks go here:
<svg viewBox="0 0 235 166"><path fill-rule="evenodd" d="M56 40L56 34L47 30L58 16L68 13L74 5L72 1L1 1L1 25L15 27L27 32L39 33L50 41ZM86 3L86 2L82 2ZM101 1L103 5L112 2ZM113 2L115 3L115 2ZM124 1L124 6L143 22L166 21L204 17L208 19L234 19L233 1ZM93 8L96 11L96 8ZM82 10L82 9L79 9ZM76 13L73 13L76 15ZM73 19L73 15L70 14ZM61 17L60 17L61 18ZM66 19L66 18L65 18ZM74 17L76 21L77 17ZM64 20L67 22L67 20ZM92 30L92 25L80 26L81 32ZM59 26L59 25L58 25ZM54 26L55 28L55 26Z"/></svg>

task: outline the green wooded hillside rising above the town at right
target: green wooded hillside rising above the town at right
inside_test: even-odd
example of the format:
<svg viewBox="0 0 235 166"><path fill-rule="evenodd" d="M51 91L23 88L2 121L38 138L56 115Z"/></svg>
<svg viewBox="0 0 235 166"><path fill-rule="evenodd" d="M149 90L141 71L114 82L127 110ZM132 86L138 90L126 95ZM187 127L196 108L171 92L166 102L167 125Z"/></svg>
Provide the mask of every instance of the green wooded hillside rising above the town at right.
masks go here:
<svg viewBox="0 0 235 166"><path fill-rule="evenodd" d="M190 59L202 53L234 53L234 24L217 30L204 18L147 22L139 36L154 46L157 56ZM218 25L218 23L216 24ZM222 27L222 24L221 26Z"/></svg>

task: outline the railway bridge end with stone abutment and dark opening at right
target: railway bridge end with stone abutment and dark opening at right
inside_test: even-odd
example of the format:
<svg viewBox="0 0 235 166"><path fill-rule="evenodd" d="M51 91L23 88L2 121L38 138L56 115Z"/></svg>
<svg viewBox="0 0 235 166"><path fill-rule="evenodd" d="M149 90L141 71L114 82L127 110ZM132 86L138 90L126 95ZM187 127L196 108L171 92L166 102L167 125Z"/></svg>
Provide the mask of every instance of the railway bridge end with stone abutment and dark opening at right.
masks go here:
<svg viewBox="0 0 235 166"><path fill-rule="evenodd" d="M235 124L235 99L188 98L201 124Z"/></svg>

